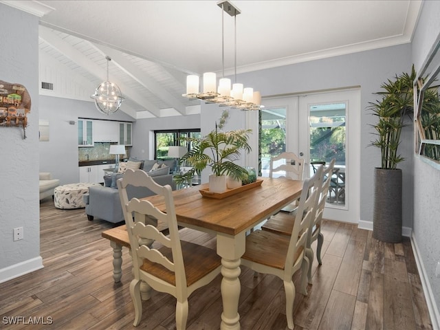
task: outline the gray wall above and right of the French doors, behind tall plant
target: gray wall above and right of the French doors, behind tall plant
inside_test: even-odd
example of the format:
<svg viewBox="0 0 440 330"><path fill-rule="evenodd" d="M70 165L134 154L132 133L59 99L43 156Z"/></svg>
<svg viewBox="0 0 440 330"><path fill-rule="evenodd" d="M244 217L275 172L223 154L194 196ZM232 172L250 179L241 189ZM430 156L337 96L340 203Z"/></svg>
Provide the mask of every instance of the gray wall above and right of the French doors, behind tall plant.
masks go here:
<svg viewBox="0 0 440 330"><path fill-rule="evenodd" d="M326 58L296 65L241 74L239 80L244 85L252 85L263 96L301 93L360 86L361 89L361 178L360 178L360 219L373 221L373 175L374 168L380 167L380 150L367 147L373 140L370 124L375 117L366 111L369 102L376 98L373 93L380 91L380 85L395 74L410 72L410 44L359 52L345 56ZM404 177L404 227L412 227L412 127L402 133L400 153L407 158L399 165Z"/></svg>

